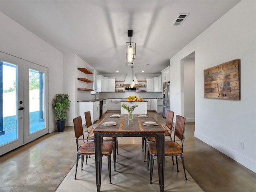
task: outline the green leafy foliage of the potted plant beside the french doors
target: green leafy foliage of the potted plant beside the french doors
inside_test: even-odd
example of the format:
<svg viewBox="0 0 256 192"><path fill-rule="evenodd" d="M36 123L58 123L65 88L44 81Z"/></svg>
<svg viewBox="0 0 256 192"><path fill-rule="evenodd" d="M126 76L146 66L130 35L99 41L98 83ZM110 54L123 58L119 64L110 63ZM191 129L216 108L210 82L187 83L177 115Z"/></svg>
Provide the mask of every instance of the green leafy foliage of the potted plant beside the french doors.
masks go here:
<svg viewBox="0 0 256 192"><path fill-rule="evenodd" d="M53 104L55 108L55 115L57 120L66 120L67 113L69 111L71 100L69 99L68 94L56 94L53 99Z"/></svg>

